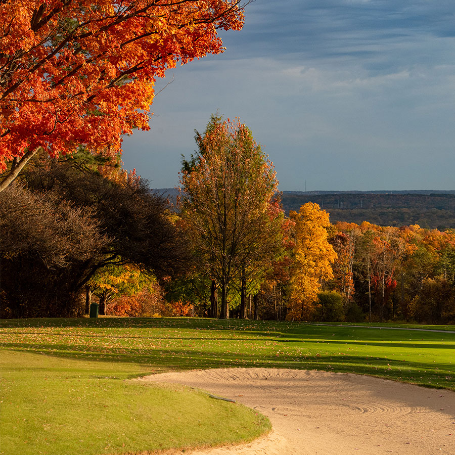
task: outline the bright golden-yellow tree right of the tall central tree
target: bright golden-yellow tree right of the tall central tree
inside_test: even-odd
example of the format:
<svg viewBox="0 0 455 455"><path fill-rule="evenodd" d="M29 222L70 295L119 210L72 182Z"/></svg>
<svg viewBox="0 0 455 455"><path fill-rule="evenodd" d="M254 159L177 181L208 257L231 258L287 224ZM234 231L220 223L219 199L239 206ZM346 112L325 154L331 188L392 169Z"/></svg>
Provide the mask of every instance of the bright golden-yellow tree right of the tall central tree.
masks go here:
<svg viewBox="0 0 455 455"><path fill-rule="evenodd" d="M322 283L333 278L337 253L328 241L329 214L319 205L308 202L290 217L295 222L295 258L288 319L303 320L311 316Z"/></svg>

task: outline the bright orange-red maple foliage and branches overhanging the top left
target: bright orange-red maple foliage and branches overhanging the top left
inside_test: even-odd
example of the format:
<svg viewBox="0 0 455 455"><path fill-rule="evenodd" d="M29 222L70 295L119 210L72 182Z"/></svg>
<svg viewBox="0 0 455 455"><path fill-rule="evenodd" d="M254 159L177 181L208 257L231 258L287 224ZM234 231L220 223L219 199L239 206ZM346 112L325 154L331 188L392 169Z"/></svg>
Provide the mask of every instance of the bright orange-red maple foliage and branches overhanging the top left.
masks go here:
<svg viewBox="0 0 455 455"><path fill-rule="evenodd" d="M149 129L156 77L223 51L240 0L0 2L0 191L38 150L116 153ZM8 166L8 163L11 163Z"/></svg>

